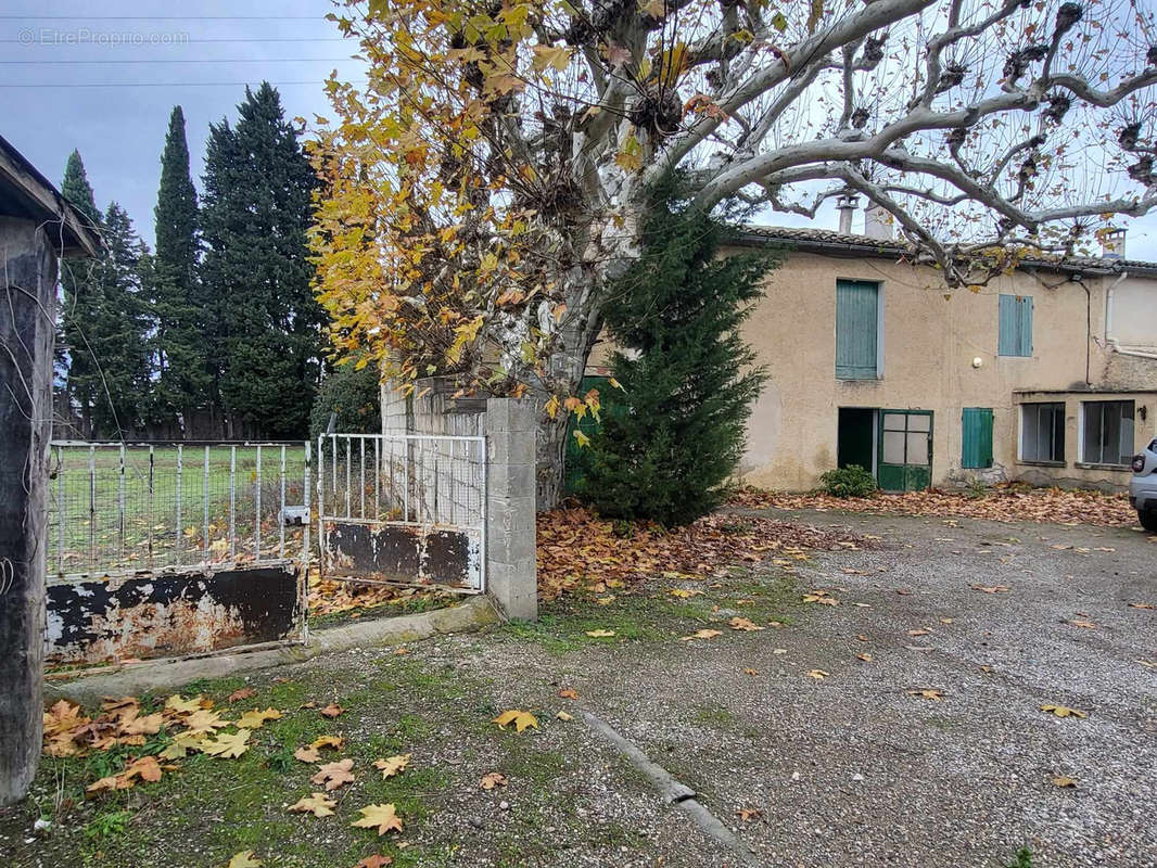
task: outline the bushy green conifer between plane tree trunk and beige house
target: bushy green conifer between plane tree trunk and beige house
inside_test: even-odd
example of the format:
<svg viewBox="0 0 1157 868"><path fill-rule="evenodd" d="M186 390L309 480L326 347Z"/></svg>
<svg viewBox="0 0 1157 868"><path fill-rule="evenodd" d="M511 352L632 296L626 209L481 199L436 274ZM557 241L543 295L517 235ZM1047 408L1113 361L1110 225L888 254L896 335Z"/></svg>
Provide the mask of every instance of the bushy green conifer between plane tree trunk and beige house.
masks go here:
<svg viewBox="0 0 1157 868"><path fill-rule="evenodd" d="M775 260L720 256L729 227L656 191L643 249L605 287L611 368L625 390L583 450L581 498L600 515L680 525L710 512L743 455L764 372L739 328Z"/></svg>

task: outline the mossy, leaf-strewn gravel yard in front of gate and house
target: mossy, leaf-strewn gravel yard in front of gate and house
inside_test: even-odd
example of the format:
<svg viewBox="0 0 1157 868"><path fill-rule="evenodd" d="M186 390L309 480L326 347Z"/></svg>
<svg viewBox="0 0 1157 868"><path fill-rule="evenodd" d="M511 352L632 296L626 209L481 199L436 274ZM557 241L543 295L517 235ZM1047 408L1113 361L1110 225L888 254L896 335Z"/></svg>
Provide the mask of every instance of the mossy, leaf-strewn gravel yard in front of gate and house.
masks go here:
<svg viewBox="0 0 1157 868"><path fill-rule="evenodd" d="M220 868L253 848L270 868L351 868L382 847L396 868L1002 868L1027 847L1033 868L1157 866L1157 538L774 515L871 544L612 583L532 626L202 683L221 707L255 687L285 718L242 760L193 758L155 789L81 799L42 836L58 784L45 762L34 797L0 811L0 862ZM347 708L333 723L311 711L330 701ZM500 731L503 709L538 729ZM739 843L692 822L695 803L664 803L585 713ZM339 816L290 815L311 770L273 760L330 729L358 781ZM390 752L413 770L385 781L369 764ZM508 786L482 788L492 772ZM371 801L398 802L403 836L358 837L351 816ZM126 830L94 840L115 806Z"/></svg>

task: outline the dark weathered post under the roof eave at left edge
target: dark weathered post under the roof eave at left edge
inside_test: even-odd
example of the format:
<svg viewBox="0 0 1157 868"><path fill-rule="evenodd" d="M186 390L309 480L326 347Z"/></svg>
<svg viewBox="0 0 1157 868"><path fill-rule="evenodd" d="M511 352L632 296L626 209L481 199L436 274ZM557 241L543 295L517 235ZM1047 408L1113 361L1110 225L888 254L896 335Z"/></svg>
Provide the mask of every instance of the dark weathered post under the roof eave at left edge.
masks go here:
<svg viewBox="0 0 1157 868"><path fill-rule="evenodd" d="M0 806L40 755L44 545L57 257L31 220L0 216Z"/></svg>

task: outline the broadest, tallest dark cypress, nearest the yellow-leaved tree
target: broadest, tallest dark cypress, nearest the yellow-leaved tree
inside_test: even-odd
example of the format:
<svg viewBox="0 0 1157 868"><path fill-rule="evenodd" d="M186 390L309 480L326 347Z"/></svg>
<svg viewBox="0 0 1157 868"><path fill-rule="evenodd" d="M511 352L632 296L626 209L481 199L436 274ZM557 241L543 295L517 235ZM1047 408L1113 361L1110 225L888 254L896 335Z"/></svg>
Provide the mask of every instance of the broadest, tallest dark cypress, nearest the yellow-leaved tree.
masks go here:
<svg viewBox="0 0 1157 868"><path fill-rule="evenodd" d="M317 179L278 91L245 89L236 127L209 126L201 277L233 436L304 436L317 391L323 311L305 233Z"/></svg>

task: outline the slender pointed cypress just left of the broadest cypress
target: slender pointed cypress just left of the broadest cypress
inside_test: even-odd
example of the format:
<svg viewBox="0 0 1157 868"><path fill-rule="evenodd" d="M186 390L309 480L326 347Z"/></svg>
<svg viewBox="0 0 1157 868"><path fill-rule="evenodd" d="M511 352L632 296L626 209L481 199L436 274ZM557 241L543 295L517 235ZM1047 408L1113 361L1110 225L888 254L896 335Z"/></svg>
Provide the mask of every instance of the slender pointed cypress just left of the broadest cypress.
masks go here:
<svg viewBox="0 0 1157 868"><path fill-rule="evenodd" d="M176 427L208 402L209 369L206 334L211 323L197 279L197 190L189 174L185 116L177 105L161 154L161 185L156 208L156 255L146 265L156 329L152 354L157 376L152 415Z"/></svg>

